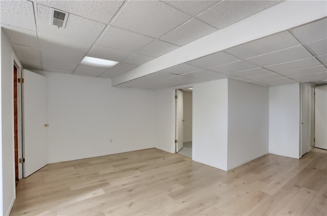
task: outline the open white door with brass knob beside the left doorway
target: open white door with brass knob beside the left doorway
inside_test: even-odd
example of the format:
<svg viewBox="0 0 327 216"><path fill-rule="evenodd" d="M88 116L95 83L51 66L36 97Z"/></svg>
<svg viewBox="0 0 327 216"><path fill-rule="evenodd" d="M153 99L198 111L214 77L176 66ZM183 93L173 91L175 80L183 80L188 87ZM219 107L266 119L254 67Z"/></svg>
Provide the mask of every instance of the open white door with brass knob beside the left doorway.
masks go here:
<svg viewBox="0 0 327 216"><path fill-rule="evenodd" d="M46 78L24 70L24 177L48 164Z"/></svg>

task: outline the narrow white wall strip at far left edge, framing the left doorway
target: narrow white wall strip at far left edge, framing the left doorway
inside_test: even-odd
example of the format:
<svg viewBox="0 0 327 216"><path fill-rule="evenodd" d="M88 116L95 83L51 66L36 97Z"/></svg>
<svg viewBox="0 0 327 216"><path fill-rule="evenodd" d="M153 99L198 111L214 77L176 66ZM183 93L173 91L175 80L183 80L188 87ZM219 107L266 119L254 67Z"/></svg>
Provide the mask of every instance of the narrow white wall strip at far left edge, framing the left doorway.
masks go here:
<svg viewBox="0 0 327 216"><path fill-rule="evenodd" d="M21 68L9 40L1 30L1 122L2 122L2 212L9 215L15 200L13 70L14 61Z"/></svg>

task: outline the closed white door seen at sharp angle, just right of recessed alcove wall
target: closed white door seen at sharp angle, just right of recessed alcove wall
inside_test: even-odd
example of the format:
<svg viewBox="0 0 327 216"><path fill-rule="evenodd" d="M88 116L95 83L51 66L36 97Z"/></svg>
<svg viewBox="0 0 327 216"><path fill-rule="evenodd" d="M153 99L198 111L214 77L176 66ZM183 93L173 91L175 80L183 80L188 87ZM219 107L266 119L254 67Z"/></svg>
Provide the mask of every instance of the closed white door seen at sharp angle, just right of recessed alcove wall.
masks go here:
<svg viewBox="0 0 327 216"><path fill-rule="evenodd" d="M301 83L301 156L308 152L308 84Z"/></svg>

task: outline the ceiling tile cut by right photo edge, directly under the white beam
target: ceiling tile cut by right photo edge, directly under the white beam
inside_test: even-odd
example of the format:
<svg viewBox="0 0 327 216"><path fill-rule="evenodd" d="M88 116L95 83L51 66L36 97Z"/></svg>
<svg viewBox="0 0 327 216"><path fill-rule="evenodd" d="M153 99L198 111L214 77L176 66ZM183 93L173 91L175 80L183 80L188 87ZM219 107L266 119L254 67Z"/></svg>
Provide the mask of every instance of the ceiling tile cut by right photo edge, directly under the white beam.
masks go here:
<svg viewBox="0 0 327 216"><path fill-rule="evenodd" d="M327 18L299 26L293 32L303 43L327 38Z"/></svg>

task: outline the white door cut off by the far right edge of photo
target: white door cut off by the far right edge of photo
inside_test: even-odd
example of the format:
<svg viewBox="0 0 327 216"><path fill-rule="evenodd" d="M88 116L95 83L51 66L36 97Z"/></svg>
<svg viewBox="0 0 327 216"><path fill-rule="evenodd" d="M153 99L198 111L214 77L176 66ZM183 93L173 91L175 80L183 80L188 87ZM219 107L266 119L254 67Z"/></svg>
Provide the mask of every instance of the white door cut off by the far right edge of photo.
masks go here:
<svg viewBox="0 0 327 216"><path fill-rule="evenodd" d="M315 88L315 147L327 149L327 86Z"/></svg>

